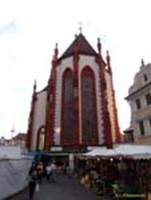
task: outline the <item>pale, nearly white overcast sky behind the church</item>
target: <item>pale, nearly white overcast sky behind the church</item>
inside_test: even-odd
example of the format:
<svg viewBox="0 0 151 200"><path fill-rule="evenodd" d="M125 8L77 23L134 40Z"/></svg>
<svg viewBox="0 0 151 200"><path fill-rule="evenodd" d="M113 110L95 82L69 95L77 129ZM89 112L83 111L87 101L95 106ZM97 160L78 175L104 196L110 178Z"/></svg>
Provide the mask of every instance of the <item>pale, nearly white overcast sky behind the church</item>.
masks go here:
<svg viewBox="0 0 151 200"><path fill-rule="evenodd" d="M0 0L0 136L26 132L32 87L43 89L55 43L59 54L82 32L110 51L121 130L130 122L124 99L141 58L151 62L150 0Z"/></svg>

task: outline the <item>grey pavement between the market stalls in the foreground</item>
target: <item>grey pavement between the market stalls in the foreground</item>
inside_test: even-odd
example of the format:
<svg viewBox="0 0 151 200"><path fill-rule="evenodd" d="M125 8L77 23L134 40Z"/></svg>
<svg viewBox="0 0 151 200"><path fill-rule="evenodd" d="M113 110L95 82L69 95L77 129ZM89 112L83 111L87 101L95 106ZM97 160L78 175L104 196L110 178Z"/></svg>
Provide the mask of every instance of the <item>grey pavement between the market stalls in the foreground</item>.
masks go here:
<svg viewBox="0 0 151 200"><path fill-rule="evenodd" d="M40 190L35 192L34 200L103 200L90 191L86 191L75 178L59 174L56 183L43 180ZM29 200L28 189L9 200Z"/></svg>

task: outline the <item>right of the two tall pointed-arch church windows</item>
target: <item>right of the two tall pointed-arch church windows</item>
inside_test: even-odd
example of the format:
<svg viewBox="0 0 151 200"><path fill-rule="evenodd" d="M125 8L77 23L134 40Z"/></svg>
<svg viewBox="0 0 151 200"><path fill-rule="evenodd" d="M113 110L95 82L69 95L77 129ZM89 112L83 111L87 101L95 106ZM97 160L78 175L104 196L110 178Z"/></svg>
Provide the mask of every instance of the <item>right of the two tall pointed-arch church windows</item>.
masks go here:
<svg viewBox="0 0 151 200"><path fill-rule="evenodd" d="M84 143L97 142L97 119L95 77L89 67L82 71L82 140Z"/></svg>

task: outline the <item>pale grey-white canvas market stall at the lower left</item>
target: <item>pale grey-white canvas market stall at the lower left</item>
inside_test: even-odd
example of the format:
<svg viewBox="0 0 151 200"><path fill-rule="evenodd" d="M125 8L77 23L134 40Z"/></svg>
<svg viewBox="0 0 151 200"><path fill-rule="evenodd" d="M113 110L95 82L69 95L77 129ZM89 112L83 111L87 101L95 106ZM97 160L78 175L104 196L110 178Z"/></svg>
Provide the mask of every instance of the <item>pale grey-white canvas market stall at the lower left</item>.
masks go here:
<svg viewBox="0 0 151 200"><path fill-rule="evenodd" d="M0 146L0 200L21 191L28 184L33 157L18 146Z"/></svg>

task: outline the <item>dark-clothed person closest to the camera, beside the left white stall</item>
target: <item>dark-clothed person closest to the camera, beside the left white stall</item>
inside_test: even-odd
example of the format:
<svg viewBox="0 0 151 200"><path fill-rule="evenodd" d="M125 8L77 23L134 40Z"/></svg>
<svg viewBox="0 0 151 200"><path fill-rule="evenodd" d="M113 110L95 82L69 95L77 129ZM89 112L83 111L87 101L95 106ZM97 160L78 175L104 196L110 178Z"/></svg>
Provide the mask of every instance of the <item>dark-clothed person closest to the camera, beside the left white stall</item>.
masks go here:
<svg viewBox="0 0 151 200"><path fill-rule="evenodd" d="M37 184L38 184L37 171L36 169L34 169L30 173L30 179L29 179L29 200L33 200Z"/></svg>

